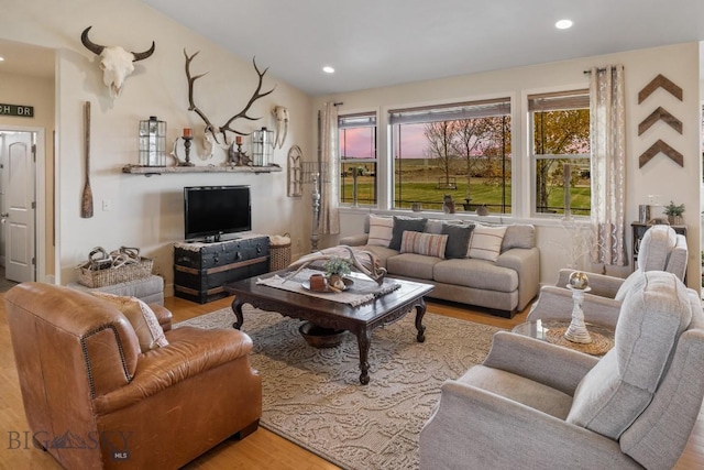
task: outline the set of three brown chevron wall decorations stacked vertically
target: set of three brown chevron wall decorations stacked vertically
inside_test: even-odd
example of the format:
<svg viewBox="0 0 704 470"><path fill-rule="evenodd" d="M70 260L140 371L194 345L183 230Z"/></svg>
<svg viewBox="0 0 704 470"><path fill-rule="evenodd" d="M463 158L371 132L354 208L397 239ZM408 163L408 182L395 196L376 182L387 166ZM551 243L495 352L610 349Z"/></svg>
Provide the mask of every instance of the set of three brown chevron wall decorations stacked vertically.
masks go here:
<svg viewBox="0 0 704 470"><path fill-rule="evenodd" d="M650 80L650 83L638 92L638 103L640 105L641 102L644 102L658 88L663 88L670 95L682 101L682 88L676 86L674 83L672 83L672 80L670 80L662 74L658 74L656 78ZM672 116L668 110L660 106L654 111L652 111L650 116L644 119L640 124L638 124L638 135L641 135L658 121L663 121L680 134L682 133L682 121L680 121L678 118ZM650 160L652 160L652 157L658 153L663 153L678 165L684 166L683 155L672 146L668 145L661 139L658 139L656 143L650 145L648 150L640 154L640 156L638 157L638 166L642 168L642 166L646 163L650 162Z"/></svg>

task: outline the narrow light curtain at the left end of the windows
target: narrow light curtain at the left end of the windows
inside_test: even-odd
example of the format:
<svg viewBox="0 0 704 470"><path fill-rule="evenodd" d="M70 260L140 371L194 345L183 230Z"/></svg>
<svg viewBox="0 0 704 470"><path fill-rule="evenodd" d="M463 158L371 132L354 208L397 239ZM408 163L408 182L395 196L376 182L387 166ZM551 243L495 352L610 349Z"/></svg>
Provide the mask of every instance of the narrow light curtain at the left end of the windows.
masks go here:
<svg viewBox="0 0 704 470"><path fill-rule="evenodd" d="M338 108L326 102L320 120L320 233L340 233Z"/></svg>

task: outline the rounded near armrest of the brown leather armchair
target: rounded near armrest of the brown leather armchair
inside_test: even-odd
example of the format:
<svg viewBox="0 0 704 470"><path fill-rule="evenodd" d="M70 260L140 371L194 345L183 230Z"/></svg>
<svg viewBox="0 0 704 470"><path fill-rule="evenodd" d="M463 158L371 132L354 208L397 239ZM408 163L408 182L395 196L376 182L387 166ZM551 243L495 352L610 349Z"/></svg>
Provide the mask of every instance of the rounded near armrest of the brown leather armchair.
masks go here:
<svg viewBox="0 0 704 470"><path fill-rule="evenodd" d="M222 364L244 358L252 339L235 329L177 328L166 335L168 346L140 354L129 384L96 396L97 413L108 414L144 400Z"/></svg>

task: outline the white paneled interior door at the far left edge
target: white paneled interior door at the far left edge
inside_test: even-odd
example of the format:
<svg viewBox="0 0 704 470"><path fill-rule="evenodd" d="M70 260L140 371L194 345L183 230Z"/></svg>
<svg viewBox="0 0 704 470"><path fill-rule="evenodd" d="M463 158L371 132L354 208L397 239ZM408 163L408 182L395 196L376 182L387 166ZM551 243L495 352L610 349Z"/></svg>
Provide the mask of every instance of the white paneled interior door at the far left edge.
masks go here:
<svg viewBox="0 0 704 470"><path fill-rule="evenodd" d="M9 132L3 139L2 222L6 277L34 281L34 144L31 132Z"/></svg>

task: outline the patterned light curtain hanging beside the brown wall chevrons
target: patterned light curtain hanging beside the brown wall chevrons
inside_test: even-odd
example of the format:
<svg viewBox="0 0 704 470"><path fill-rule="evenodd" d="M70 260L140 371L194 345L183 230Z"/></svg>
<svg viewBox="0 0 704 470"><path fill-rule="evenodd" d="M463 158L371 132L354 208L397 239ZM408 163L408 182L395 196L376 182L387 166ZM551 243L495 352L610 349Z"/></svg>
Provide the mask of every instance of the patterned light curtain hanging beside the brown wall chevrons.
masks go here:
<svg viewBox="0 0 704 470"><path fill-rule="evenodd" d="M592 262L628 264L624 66L592 68Z"/></svg>

